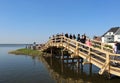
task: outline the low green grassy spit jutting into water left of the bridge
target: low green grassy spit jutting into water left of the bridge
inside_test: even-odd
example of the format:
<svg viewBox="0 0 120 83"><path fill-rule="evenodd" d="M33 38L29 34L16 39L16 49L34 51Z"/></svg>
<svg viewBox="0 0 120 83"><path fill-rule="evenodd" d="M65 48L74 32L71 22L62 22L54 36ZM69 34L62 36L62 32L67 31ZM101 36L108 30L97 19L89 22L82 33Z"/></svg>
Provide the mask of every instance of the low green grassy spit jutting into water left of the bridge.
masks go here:
<svg viewBox="0 0 120 83"><path fill-rule="evenodd" d="M44 53L38 50L32 50L32 49L18 49L15 51L10 51L10 54L16 54L16 55L31 55L31 56L40 56L43 55Z"/></svg>

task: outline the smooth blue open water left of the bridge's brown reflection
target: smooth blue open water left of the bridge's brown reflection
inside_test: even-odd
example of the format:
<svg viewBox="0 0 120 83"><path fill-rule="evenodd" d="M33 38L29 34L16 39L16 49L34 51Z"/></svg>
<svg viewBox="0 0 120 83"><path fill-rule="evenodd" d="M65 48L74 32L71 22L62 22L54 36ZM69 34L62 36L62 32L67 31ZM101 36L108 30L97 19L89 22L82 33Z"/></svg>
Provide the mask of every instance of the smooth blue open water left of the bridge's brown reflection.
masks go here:
<svg viewBox="0 0 120 83"><path fill-rule="evenodd" d="M37 57L8 54L24 45L0 45L0 83L55 83Z"/></svg>

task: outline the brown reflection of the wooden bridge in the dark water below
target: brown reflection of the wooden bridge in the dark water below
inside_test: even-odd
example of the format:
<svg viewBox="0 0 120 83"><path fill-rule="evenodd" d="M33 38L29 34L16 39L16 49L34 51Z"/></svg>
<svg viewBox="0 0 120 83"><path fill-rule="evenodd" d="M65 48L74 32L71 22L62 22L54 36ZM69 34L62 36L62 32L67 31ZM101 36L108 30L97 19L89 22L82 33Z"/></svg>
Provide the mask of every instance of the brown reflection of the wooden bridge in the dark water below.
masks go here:
<svg viewBox="0 0 120 83"><path fill-rule="evenodd" d="M77 67L75 64L66 64L63 60L52 57L39 57L39 60L44 63L51 77L57 83L118 83L120 80L108 80L97 73L92 72L92 65L89 73L83 66Z"/></svg>

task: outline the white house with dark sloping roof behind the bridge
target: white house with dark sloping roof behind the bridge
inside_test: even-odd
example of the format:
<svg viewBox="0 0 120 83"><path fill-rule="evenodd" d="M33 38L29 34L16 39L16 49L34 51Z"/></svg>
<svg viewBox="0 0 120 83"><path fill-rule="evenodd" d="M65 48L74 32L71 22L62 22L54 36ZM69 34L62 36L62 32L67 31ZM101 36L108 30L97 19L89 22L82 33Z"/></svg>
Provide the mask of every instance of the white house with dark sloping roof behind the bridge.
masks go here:
<svg viewBox="0 0 120 83"><path fill-rule="evenodd" d="M113 43L115 41L120 42L120 27L113 27L102 35L103 43Z"/></svg>

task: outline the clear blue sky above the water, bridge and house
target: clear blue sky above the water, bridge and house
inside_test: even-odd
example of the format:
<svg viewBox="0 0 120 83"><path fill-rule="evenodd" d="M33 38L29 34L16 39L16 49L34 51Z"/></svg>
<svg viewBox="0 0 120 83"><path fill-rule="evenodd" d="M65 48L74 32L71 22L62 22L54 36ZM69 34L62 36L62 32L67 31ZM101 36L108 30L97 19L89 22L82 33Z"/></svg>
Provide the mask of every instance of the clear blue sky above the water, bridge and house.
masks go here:
<svg viewBox="0 0 120 83"><path fill-rule="evenodd" d="M119 20L120 0L0 0L0 43L43 43L62 32L101 36Z"/></svg>

